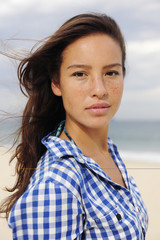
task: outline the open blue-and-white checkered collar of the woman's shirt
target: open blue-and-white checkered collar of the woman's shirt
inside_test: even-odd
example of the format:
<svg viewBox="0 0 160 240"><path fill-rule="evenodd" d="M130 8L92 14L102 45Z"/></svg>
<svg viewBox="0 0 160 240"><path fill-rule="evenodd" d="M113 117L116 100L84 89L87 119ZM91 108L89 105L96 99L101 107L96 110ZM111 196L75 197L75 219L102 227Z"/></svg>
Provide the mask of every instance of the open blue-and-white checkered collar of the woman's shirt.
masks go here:
<svg viewBox="0 0 160 240"><path fill-rule="evenodd" d="M96 174L115 185L103 169L92 158L85 156L74 142L61 139L57 137L57 135L57 130L55 130L42 139L42 144L44 144L44 146L49 150L55 161L59 158L65 158L66 156L73 157L77 162L85 164L91 171L94 171ZM121 170L127 187L129 187L125 165L119 156L117 147L113 144L110 138L108 138L108 147L114 161Z"/></svg>

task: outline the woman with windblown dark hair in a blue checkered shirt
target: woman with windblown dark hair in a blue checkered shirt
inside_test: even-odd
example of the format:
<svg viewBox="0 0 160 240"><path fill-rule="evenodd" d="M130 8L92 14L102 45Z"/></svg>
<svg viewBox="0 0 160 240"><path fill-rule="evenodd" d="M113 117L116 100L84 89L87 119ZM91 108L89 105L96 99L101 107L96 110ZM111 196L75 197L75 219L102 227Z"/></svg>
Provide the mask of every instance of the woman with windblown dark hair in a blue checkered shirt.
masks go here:
<svg viewBox="0 0 160 240"><path fill-rule="evenodd" d="M145 206L108 138L125 76L116 22L71 18L18 73L28 102L16 191L1 207L13 239L145 239Z"/></svg>

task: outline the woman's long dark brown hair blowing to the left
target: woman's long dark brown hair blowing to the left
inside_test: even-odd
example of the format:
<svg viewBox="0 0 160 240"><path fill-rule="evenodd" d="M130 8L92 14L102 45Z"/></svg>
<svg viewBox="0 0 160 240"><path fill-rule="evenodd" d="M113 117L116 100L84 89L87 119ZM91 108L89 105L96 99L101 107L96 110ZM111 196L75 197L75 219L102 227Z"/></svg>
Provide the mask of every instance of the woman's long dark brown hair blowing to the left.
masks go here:
<svg viewBox="0 0 160 240"><path fill-rule="evenodd" d="M26 190L37 162L46 151L41 139L65 119L62 98L51 90L51 82L59 83L59 69L64 49L75 40L94 33L105 33L121 47L125 74L125 42L117 23L105 14L80 14L65 22L51 37L36 48L18 67L22 92L28 97L18 133L20 144L11 161L16 158L17 180L12 193L1 205L6 217L17 199Z"/></svg>

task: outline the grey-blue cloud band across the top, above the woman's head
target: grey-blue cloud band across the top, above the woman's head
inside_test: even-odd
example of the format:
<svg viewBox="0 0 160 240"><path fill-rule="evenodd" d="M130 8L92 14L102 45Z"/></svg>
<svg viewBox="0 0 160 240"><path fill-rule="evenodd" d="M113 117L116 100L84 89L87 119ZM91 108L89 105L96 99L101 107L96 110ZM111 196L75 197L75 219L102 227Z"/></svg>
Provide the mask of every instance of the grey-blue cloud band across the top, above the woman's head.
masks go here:
<svg viewBox="0 0 160 240"><path fill-rule="evenodd" d="M156 0L2 0L0 15L4 20L0 21L0 29L6 36L46 36L69 17L88 11L113 16L127 40L160 36L157 31L160 3Z"/></svg>

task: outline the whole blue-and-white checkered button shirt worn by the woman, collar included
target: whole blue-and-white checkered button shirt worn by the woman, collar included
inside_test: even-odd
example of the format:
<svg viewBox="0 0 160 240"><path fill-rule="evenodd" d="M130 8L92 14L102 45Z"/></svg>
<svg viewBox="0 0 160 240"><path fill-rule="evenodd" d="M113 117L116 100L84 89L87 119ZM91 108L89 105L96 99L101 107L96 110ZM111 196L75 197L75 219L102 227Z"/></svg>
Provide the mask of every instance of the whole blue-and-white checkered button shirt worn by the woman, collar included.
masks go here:
<svg viewBox="0 0 160 240"><path fill-rule="evenodd" d="M14 240L145 239L146 208L110 139L109 151L127 188L73 142L51 133L42 143L47 151L10 212Z"/></svg>

